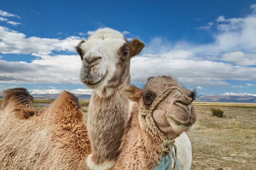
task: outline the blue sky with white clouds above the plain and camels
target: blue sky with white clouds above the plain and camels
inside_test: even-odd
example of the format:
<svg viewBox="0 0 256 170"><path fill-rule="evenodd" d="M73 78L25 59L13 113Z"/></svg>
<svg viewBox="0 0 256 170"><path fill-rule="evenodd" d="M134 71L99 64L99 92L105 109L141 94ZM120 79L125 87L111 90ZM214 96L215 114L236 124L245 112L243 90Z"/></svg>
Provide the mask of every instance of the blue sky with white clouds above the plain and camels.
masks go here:
<svg viewBox="0 0 256 170"><path fill-rule="evenodd" d="M88 94L74 51L97 28L146 44L131 80L172 74L200 94L256 94L255 1L21 1L0 3L0 91Z"/></svg>

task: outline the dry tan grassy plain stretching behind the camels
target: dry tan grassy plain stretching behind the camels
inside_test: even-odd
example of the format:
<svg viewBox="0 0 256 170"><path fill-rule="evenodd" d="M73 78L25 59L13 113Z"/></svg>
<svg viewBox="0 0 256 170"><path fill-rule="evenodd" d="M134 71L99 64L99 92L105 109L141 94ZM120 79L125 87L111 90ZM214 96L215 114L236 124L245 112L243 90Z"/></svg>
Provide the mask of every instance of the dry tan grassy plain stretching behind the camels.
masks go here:
<svg viewBox="0 0 256 170"><path fill-rule="evenodd" d="M86 122L89 101L79 102ZM193 149L191 169L256 170L256 104L196 102L195 105L198 122L187 133ZM223 110L224 117L212 116L212 107Z"/></svg>

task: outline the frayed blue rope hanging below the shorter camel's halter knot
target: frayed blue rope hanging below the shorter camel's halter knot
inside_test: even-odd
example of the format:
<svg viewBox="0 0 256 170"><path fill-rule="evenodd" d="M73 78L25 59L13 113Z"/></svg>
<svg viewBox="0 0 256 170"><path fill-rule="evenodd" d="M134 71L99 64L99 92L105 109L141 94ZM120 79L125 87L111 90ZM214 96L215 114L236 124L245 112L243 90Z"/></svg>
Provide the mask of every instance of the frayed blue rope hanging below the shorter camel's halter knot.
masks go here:
<svg viewBox="0 0 256 170"><path fill-rule="evenodd" d="M170 170L170 167L171 167L170 154L172 155L172 158L174 160L174 165L176 164L178 170L182 170L180 167L180 163L178 162L178 160L175 156L175 153L172 150L172 145L169 145L169 151L170 151L170 153L161 159L160 165L158 167L156 167L154 170Z"/></svg>

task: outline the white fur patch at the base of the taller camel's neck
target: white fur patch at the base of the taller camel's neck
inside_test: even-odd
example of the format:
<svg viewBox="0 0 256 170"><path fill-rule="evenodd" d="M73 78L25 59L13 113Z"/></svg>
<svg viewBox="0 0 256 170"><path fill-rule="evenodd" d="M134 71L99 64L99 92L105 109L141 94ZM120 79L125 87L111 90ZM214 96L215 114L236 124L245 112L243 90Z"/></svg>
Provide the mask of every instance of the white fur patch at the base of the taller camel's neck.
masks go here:
<svg viewBox="0 0 256 170"><path fill-rule="evenodd" d="M116 164L116 161L105 161L103 164L96 164L92 161L91 156L92 155L90 154L86 159L87 167L90 170L108 170Z"/></svg>

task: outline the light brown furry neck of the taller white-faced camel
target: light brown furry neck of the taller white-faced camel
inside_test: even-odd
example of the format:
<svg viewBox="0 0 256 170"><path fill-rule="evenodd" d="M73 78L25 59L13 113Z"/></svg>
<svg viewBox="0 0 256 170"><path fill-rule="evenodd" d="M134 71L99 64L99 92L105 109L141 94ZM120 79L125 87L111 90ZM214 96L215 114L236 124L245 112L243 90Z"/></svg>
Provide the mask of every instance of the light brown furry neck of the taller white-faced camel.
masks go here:
<svg viewBox="0 0 256 170"><path fill-rule="evenodd" d="M128 120L129 99L123 85L112 89L108 97L93 93L88 108L88 136L92 147L91 159L96 164L116 161ZM108 89L109 90L109 89ZM106 92L107 94L108 92Z"/></svg>

